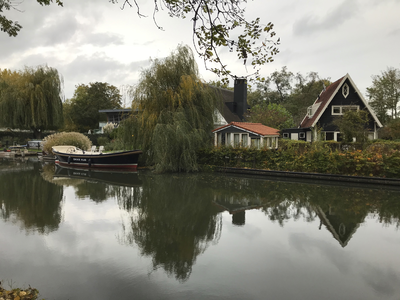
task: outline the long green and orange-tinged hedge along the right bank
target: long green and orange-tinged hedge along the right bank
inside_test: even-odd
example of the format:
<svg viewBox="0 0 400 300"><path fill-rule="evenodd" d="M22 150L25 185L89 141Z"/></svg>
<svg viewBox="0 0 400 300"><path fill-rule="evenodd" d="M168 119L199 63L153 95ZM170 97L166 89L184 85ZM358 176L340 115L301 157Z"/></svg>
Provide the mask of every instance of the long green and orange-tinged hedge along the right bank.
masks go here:
<svg viewBox="0 0 400 300"><path fill-rule="evenodd" d="M283 140L277 150L218 147L199 152L202 165L400 178L400 143L305 143Z"/></svg>

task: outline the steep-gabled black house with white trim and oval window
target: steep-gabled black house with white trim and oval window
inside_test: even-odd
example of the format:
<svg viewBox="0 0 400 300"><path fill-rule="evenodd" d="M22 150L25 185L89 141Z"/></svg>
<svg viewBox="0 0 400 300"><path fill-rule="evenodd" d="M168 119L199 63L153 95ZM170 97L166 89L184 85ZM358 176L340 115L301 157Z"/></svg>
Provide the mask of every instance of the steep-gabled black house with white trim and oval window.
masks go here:
<svg viewBox="0 0 400 300"><path fill-rule="evenodd" d="M361 109L369 113L368 138L377 139L377 130L382 124L350 75L346 74L321 92L314 104L308 107L298 128L283 129L281 132L283 138L311 142L315 138L312 137L312 129L318 126L323 129L325 140L341 141L341 133L333 121L346 110Z"/></svg>

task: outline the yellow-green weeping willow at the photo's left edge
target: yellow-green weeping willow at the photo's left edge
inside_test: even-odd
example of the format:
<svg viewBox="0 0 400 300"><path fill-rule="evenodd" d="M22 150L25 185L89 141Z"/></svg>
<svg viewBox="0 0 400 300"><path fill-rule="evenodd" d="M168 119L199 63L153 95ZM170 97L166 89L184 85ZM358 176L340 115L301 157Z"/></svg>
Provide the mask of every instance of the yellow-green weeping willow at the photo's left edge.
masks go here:
<svg viewBox="0 0 400 300"><path fill-rule="evenodd" d="M0 125L40 131L63 123L63 82L56 69L39 66L0 72Z"/></svg>

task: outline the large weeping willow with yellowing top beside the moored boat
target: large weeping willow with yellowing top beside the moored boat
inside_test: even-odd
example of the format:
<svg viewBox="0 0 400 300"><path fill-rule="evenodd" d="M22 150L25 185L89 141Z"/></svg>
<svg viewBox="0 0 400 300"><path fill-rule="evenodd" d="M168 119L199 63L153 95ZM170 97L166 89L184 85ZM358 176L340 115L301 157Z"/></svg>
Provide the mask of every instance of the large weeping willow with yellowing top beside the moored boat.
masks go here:
<svg viewBox="0 0 400 300"><path fill-rule="evenodd" d="M158 172L197 171L196 151L211 143L220 98L199 79L190 48L152 61L132 96L138 114L120 126L123 147L142 149L144 162Z"/></svg>

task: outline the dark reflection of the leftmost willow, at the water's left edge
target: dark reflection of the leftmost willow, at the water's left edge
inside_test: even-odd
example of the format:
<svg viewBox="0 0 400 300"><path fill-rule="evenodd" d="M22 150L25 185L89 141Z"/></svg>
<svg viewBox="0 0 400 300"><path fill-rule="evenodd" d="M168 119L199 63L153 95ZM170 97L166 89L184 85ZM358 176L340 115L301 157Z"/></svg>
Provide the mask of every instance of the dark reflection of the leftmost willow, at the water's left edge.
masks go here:
<svg viewBox="0 0 400 300"><path fill-rule="evenodd" d="M20 220L25 230L48 234L61 222L63 188L40 176L39 164L20 172L0 173L1 217Z"/></svg>

